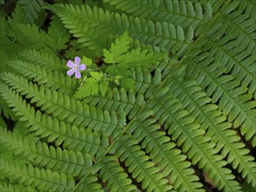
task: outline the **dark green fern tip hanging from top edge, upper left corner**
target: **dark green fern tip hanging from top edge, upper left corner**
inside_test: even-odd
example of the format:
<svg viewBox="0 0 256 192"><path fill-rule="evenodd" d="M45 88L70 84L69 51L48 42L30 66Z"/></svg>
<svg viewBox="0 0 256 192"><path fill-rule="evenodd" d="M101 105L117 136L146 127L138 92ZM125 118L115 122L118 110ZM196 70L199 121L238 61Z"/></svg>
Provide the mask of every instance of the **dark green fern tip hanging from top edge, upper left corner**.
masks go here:
<svg viewBox="0 0 256 192"><path fill-rule="evenodd" d="M30 24L33 24L38 19L38 12L45 4L43 0L19 0L17 3L24 11L23 20L28 21Z"/></svg>

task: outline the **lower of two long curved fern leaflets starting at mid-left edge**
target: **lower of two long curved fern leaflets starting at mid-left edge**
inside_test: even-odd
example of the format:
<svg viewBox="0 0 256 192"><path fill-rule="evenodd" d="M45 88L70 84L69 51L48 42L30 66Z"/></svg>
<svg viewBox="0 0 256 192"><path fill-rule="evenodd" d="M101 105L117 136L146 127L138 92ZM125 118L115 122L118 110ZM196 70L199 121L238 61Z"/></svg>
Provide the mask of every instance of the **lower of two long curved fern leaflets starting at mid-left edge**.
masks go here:
<svg viewBox="0 0 256 192"><path fill-rule="evenodd" d="M91 156L100 156L108 146L107 135L100 135L88 128L71 126L45 113L36 112L30 104L26 104L24 99L4 84L1 84L0 92L9 106L14 107L13 111L17 116L21 116L20 120L27 122L26 127L35 136L47 137L47 141L54 141L56 146L62 144L64 148Z"/></svg>

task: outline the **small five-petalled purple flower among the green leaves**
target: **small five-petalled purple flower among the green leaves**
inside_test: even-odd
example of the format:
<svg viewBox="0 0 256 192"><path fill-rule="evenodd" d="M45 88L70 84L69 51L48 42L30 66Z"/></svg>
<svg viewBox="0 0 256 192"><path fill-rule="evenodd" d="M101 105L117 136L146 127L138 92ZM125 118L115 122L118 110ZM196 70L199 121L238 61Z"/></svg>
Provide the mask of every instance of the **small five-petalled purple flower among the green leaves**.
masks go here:
<svg viewBox="0 0 256 192"><path fill-rule="evenodd" d="M70 69L70 70L68 70L68 71L66 72L66 74L67 74L68 76L72 76L73 73L75 72L75 78L76 78L76 79L80 79L80 78L81 78L81 73L80 73L80 71L84 71L84 70L86 69L86 65L84 65L84 64L81 64L81 65L80 65L80 60L81 60L80 57L75 57L75 58L74 58L74 63L73 63L72 60L68 60L68 61L67 61L66 65L67 65L69 68L72 68L72 69Z"/></svg>

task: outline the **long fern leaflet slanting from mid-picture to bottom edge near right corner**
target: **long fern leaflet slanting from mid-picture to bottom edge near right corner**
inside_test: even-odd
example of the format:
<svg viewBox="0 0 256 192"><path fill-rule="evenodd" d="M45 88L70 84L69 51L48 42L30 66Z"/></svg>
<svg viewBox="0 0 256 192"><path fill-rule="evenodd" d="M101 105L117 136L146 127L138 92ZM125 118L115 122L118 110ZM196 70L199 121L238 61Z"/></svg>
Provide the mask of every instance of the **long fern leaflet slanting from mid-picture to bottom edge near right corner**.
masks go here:
<svg viewBox="0 0 256 192"><path fill-rule="evenodd" d="M156 119L164 124L164 128L171 134L177 146L183 145L183 153L188 153L192 164L198 164L206 174L209 172L209 178L218 185L218 189L240 189L232 171L224 168L227 162L217 154L215 144L209 142L211 138L204 135L204 130L199 128L200 125L188 111L183 110L183 105L168 90L168 86L163 86L155 93L155 97L149 100L147 107L154 111Z"/></svg>

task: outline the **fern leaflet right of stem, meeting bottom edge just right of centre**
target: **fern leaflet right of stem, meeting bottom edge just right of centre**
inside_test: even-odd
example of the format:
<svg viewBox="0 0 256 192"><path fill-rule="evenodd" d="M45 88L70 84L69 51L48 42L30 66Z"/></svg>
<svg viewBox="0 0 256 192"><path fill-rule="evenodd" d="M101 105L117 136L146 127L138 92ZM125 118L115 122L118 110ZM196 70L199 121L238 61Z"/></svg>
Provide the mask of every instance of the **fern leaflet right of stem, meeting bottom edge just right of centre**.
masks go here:
<svg viewBox="0 0 256 192"><path fill-rule="evenodd" d="M114 143L110 153L114 153L125 161L128 172L136 178L137 182L142 182L142 189L149 191L169 191L173 187L164 178L155 163L149 161L149 156L141 150L141 147L131 135L122 135L121 139Z"/></svg>

